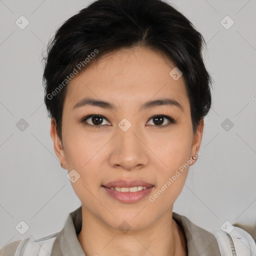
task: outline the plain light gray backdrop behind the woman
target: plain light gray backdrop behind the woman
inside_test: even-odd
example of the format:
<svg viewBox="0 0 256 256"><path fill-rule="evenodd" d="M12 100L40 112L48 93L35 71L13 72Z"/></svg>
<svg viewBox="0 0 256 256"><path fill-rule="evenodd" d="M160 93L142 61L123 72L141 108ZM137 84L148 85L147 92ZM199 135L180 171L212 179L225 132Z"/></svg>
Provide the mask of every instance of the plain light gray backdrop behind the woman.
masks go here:
<svg viewBox="0 0 256 256"><path fill-rule="evenodd" d="M202 154L173 211L209 231L226 220L256 225L256 1L171 2L204 36L214 79ZM60 231L80 205L53 150L41 54L57 26L88 3L0 0L0 247ZM21 15L29 21L24 29L15 24ZM220 23L226 15L234 21L229 29ZM28 123L23 131L16 126L21 118ZM234 124L228 130L226 118ZM21 220L29 226L23 235L15 228Z"/></svg>

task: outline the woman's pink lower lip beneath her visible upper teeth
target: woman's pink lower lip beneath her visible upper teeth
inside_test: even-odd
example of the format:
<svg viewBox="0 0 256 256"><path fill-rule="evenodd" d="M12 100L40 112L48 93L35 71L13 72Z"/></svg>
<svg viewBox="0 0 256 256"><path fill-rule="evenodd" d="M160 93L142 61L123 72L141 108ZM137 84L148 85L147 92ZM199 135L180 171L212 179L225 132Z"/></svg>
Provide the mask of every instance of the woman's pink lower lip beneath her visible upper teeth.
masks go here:
<svg viewBox="0 0 256 256"><path fill-rule="evenodd" d="M146 189L142 189L136 192L119 192L119 191L116 191L115 189L111 189L105 186L103 186L103 188L114 199L120 202L132 203L132 202L137 202L140 199L147 196L152 191L153 186L147 187Z"/></svg>

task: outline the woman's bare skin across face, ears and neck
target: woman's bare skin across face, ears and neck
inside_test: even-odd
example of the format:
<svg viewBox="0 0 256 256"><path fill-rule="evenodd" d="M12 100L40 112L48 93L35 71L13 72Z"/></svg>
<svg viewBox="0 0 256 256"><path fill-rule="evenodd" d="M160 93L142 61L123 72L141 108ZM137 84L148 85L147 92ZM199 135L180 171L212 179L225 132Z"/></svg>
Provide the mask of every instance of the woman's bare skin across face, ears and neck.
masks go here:
<svg viewBox="0 0 256 256"><path fill-rule="evenodd" d="M193 134L184 80L169 75L173 67L161 53L135 46L101 57L68 84L62 143L53 121L50 134L63 168L68 172L75 169L80 175L71 185L82 205L82 229L77 238L87 256L186 255L184 233L170 216L189 168L154 202L148 200L196 154L201 143L203 120ZM73 109L87 96L111 102L117 109ZM183 111L174 105L138 111L145 101L164 97L178 101ZM106 119L98 124L99 128L88 127L79 120L89 114ZM164 119L159 127L151 118L155 114L170 116L176 123ZM125 132L118 126L123 118L131 123ZM87 119L91 125L92 121ZM138 202L123 203L110 197L101 186L116 179L142 179L154 184L154 188ZM123 221L131 228L126 233L118 228Z"/></svg>

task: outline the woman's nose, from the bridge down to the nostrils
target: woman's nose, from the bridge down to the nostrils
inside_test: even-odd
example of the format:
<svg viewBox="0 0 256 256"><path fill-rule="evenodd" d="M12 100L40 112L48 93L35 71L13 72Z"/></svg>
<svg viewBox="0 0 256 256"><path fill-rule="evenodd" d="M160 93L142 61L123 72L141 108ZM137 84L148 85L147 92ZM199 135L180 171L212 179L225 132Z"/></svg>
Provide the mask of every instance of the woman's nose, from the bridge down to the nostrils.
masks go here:
<svg viewBox="0 0 256 256"><path fill-rule="evenodd" d="M148 164L150 150L143 141L143 135L132 126L123 131L117 126L116 135L111 139L109 164L125 170L140 169Z"/></svg>

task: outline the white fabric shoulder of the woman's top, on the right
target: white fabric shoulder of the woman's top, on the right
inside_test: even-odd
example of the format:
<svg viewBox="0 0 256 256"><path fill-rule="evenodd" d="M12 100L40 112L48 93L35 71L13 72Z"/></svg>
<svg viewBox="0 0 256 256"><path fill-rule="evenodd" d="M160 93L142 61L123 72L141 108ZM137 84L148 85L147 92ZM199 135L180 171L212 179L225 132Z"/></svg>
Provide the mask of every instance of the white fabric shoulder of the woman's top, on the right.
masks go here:
<svg viewBox="0 0 256 256"><path fill-rule="evenodd" d="M225 252L230 251L230 249L236 255L256 255L255 240L242 228L231 226L227 227L226 230L214 230L212 234L216 237L221 255L225 255Z"/></svg>

